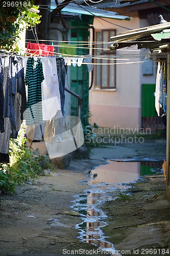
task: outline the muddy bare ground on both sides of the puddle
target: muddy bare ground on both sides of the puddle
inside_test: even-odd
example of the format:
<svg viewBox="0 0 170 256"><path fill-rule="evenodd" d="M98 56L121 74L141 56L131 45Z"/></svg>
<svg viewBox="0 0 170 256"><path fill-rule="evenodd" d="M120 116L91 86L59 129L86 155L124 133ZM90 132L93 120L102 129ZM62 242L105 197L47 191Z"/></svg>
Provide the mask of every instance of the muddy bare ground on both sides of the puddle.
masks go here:
<svg viewBox="0 0 170 256"><path fill-rule="evenodd" d="M74 254L73 250L80 249L84 249L83 255L96 255L90 253L96 249L94 245L77 238L75 225L80 216L72 212L71 201L87 188L83 181L92 168L106 164L106 159L129 157L163 161L166 140L147 138L143 143L92 148L89 159L72 160L66 169L56 167L46 171L46 176L17 187L15 195L1 195L0 255L50 256L65 251ZM170 204L165 198L163 175L139 179L126 193L128 197L101 205L108 216L108 225L103 228L107 240L122 255L168 255L163 249L169 247Z"/></svg>

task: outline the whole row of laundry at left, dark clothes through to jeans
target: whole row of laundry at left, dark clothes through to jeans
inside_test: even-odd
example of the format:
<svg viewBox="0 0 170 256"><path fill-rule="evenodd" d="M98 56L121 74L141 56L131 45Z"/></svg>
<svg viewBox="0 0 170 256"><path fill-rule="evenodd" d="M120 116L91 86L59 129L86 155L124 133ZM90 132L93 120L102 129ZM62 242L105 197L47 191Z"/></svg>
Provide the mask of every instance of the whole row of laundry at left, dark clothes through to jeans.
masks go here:
<svg viewBox="0 0 170 256"><path fill-rule="evenodd" d="M10 137L16 138L23 120L23 111L25 111L24 119L31 131L33 142L49 140L52 143L62 142L65 123L65 61L62 57L42 59L23 58L17 55L0 57L2 110L0 113L0 162L2 163L9 162ZM28 97L26 97L26 88L28 88ZM48 109L44 113L43 99L44 101L50 99ZM48 120L43 120L43 114Z"/></svg>

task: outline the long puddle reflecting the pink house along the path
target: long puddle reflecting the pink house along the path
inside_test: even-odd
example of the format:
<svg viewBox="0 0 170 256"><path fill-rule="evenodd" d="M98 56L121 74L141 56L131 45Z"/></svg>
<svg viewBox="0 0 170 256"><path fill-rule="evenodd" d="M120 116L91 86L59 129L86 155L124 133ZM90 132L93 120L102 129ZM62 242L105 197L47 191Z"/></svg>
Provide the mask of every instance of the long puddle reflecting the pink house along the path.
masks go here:
<svg viewBox="0 0 170 256"><path fill-rule="evenodd" d="M126 183L135 181L139 176L160 172L162 163L163 161L109 160L108 164L91 170L90 179L87 182L89 189L85 190L83 195L77 195L72 206L73 210L82 216L82 222L76 225L79 230L79 239L82 242L94 244L111 255L120 255L116 253L114 245L107 242L107 237L101 230L101 227L107 225L104 221L107 216L98 207L106 201L116 199L118 189L125 190L129 187ZM109 196L109 191L112 191L112 196Z"/></svg>

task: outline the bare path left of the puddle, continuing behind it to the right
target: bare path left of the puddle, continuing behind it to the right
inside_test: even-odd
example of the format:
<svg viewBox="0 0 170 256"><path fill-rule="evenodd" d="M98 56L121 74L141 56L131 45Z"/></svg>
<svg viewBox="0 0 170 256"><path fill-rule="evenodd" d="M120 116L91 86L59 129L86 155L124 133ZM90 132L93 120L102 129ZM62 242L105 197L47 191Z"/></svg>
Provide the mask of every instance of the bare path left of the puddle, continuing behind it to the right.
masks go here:
<svg viewBox="0 0 170 256"><path fill-rule="evenodd" d="M106 164L105 159L114 157L163 159L165 147L165 140L152 140L145 141L143 145L120 144L93 148L90 159L74 160L66 170L56 169L55 172L49 172L46 176L32 181L32 184L17 187L16 195L1 195L0 255L55 255L62 253L63 249L96 249L95 246L82 243L77 238L75 225L80 223L80 218L70 208L74 195L82 193L85 189L83 181L89 170ZM109 210L109 207L106 209ZM114 215L111 208L110 214ZM110 219L109 224L113 225L113 220ZM106 229L106 232L110 231ZM114 236L111 233L109 236L114 243Z"/></svg>

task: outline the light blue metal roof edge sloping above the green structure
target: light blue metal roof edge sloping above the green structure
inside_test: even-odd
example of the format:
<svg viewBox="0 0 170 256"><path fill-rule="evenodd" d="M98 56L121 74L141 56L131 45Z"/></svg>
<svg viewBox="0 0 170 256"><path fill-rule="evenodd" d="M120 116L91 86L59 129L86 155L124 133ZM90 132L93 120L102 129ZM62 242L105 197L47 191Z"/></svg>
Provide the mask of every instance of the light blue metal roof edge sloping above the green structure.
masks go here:
<svg viewBox="0 0 170 256"><path fill-rule="evenodd" d="M56 9L56 4L55 1L52 0L51 2L51 10ZM90 6L83 6L83 5L77 5L73 3L69 3L66 5L61 12L68 12L68 13L77 13L79 14L85 14L85 15L92 15L92 16L97 16L97 17L105 17L105 18L113 18L113 19L126 19L129 20L129 16L124 16L124 15L118 15L117 12L112 12L112 11L105 11L105 10L100 10L98 8L93 8Z"/></svg>

